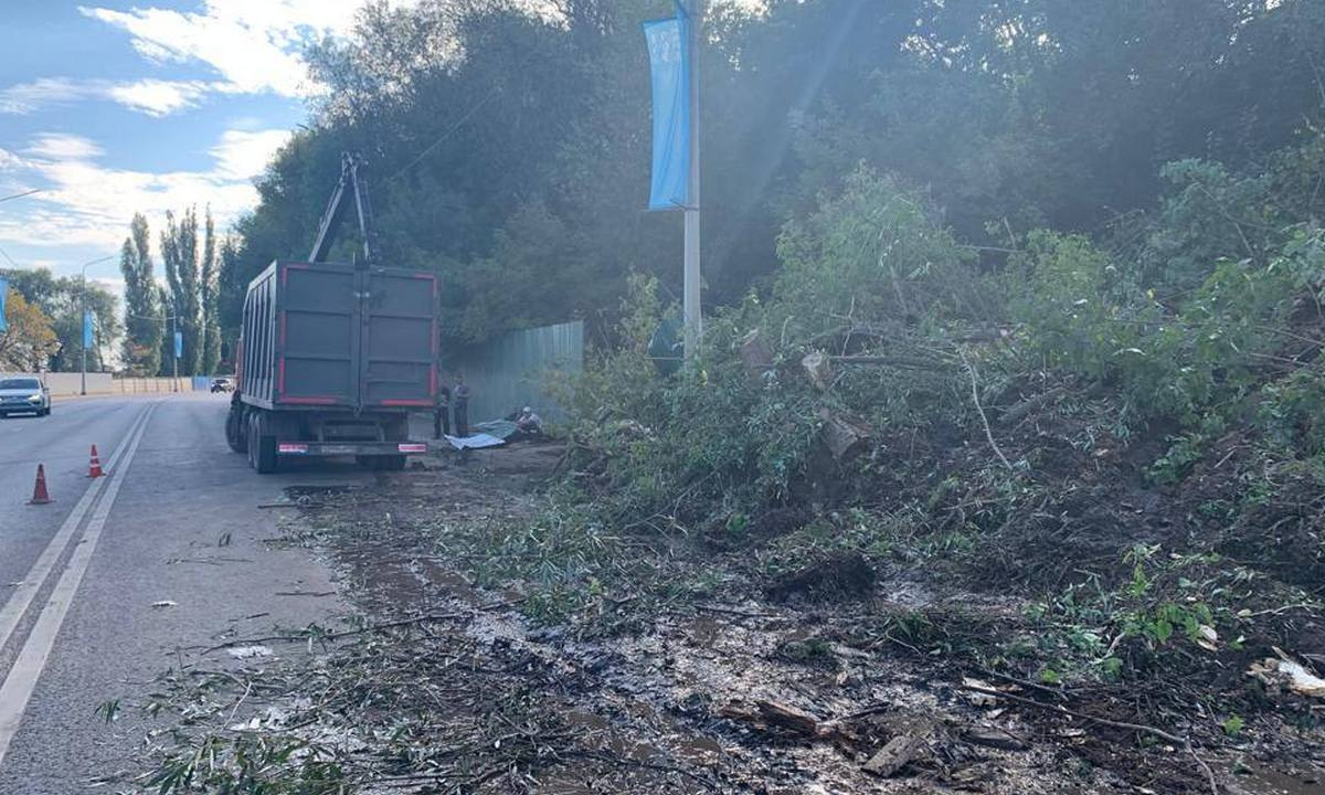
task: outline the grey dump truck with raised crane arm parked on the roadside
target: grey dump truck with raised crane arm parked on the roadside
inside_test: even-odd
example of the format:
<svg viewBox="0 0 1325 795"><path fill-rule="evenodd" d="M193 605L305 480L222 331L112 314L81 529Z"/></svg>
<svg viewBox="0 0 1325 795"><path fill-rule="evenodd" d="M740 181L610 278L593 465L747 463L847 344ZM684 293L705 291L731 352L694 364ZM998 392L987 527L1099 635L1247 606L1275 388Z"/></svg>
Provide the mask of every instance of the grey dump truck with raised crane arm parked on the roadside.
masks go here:
<svg viewBox="0 0 1325 795"><path fill-rule="evenodd" d="M437 277L375 265L359 166L343 158L307 260L272 262L244 298L225 437L260 473L322 456L404 469L428 449L409 440L409 413L437 395ZM351 193L363 256L325 262Z"/></svg>

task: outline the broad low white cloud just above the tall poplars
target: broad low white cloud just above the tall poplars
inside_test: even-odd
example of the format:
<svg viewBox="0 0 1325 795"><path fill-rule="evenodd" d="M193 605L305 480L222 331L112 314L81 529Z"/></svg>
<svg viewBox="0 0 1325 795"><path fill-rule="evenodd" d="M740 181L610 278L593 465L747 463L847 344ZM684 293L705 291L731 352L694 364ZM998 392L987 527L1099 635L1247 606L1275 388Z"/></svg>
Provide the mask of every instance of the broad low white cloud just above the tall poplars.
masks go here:
<svg viewBox="0 0 1325 795"><path fill-rule="evenodd" d="M105 166L102 148L85 138L38 135L21 155L0 158L0 174L41 187L21 213L0 215L0 245L115 253L134 212L144 213L155 232L167 209L189 205L211 205L216 225L225 228L257 204L250 178L288 139L284 130L229 130L208 150L211 170L154 174Z"/></svg>

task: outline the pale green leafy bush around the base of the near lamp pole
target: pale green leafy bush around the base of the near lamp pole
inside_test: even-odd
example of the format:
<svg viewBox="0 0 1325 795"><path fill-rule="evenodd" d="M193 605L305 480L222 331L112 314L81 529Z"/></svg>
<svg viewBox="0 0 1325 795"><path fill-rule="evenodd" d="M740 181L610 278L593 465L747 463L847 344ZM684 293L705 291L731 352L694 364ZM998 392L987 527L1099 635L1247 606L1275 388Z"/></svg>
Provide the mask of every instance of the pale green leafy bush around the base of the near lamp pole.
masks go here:
<svg viewBox="0 0 1325 795"><path fill-rule="evenodd" d="M712 317L701 355L670 378L657 375L647 344L666 309L655 282L631 280L621 346L574 384L575 435L586 465L603 468L595 482L607 488L595 493L617 517L692 526L708 515L758 515L794 498L819 444L820 409L888 427L961 403L942 359L937 375L910 382L888 368L844 370L828 394L799 370L804 354L831 344L869 350L886 338L896 350L922 330L933 344L975 311L970 252L933 223L918 195L860 170L840 196L787 225L779 252L770 295ZM739 356L751 331L772 355L762 372Z"/></svg>

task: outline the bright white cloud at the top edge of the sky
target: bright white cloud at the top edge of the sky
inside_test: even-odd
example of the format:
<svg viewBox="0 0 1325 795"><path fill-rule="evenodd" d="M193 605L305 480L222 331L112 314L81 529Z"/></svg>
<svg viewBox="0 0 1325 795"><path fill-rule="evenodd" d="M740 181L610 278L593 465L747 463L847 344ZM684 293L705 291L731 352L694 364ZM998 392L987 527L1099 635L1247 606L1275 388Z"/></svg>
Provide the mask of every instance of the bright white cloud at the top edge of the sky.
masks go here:
<svg viewBox="0 0 1325 795"><path fill-rule="evenodd" d="M347 34L362 7L363 0L205 0L199 12L78 11L129 33L134 49L150 61L205 64L238 93L305 97L317 86L301 57L303 46Z"/></svg>

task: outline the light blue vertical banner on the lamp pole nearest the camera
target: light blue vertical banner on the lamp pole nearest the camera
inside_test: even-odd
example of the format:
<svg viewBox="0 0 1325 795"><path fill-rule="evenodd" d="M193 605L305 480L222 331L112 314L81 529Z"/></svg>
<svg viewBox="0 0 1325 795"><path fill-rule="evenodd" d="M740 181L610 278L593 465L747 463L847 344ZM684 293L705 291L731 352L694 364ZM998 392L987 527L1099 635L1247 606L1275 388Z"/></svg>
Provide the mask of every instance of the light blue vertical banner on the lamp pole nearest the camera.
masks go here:
<svg viewBox="0 0 1325 795"><path fill-rule="evenodd" d="M690 19L644 23L653 93L649 209L684 208L690 195Z"/></svg>

